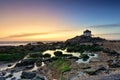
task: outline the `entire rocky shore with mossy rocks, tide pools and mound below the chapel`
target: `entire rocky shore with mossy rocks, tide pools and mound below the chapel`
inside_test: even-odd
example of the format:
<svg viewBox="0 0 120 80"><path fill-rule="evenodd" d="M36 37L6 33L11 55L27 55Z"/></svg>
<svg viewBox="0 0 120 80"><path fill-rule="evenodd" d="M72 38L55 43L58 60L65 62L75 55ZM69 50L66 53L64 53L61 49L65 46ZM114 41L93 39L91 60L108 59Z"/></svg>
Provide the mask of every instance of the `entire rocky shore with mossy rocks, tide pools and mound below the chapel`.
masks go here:
<svg viewBox="0 0 120 80"><path fill-rule="evenodd" d="M0 80L120 79L120 42L89 40L0 46Z"/></svg>

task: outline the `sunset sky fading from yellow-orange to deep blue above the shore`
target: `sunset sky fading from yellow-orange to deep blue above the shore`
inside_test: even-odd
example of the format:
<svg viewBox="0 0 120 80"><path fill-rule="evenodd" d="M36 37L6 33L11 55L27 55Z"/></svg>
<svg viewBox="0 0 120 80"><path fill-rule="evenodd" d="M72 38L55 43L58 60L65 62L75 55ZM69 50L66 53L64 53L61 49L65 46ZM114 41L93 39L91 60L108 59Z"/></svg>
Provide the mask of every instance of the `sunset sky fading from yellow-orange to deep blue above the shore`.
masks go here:
<svg viewBox="0 0 120 80"><path fill-rule="evenodd" d="M120 0L0 0L0 41L62 41L86 29L120 39Z"/></svg>

